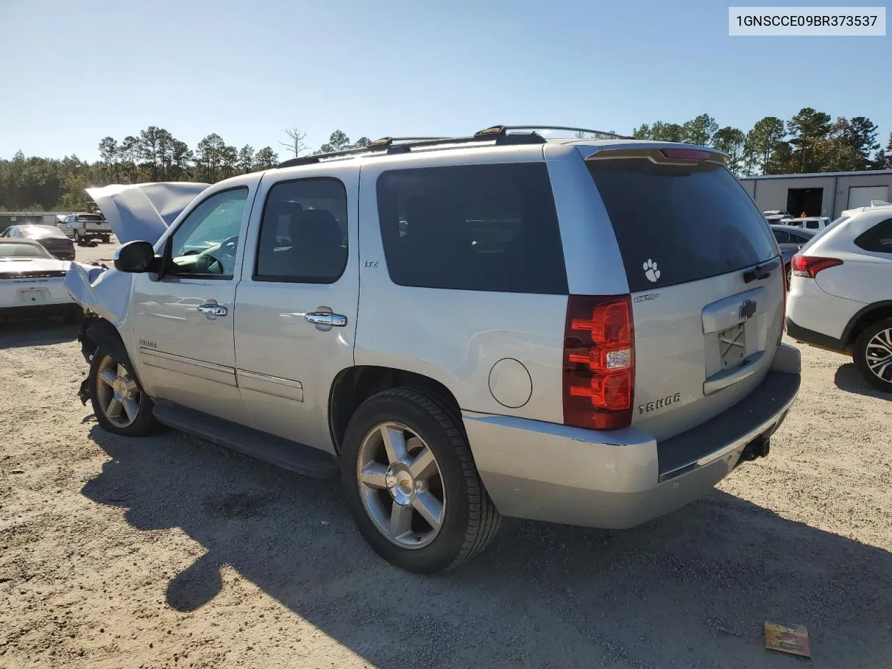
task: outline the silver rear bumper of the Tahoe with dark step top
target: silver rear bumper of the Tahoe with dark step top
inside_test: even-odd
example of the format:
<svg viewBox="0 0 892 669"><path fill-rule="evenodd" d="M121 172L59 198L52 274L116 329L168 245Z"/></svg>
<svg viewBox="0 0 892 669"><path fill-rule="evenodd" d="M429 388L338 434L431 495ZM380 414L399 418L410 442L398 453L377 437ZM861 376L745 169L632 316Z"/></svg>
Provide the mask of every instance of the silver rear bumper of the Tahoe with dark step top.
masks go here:
<svg viewBox="0 0 892 669"><path fill-rule="evenodd" d="M598 432L463 412L477 468L506 516L625 528L705 495L787 416L799 351L781 344L762 384L723 414L659 442L642 430Z"/></svg>

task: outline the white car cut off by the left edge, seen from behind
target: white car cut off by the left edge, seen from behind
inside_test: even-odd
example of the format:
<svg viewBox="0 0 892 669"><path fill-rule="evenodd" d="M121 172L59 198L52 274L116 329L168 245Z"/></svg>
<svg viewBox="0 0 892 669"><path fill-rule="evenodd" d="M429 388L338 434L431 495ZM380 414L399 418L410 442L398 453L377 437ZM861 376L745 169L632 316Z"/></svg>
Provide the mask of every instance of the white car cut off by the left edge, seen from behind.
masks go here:
<svg viewBox="0 0 892 669"><path fill-rule="evenodd" d="M70 264L30 239L0 239L0 320L76 320L83 309L64 286Z"/></svg>

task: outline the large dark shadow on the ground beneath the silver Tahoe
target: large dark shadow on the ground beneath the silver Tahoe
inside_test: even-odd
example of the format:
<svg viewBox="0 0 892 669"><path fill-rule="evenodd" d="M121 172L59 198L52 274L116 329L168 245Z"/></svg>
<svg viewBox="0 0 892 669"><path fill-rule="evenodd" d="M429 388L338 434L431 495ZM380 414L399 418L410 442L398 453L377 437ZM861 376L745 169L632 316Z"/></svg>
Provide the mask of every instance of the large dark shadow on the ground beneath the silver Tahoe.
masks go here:
<svg viewBox="0 0 892 669"><path fill-rule="evenodd" d="M892 554L722 491L624 532L508 520L474 562L425 577L368 549L337 482L182 434L90 434L111 460L83 494L205 550L159 584L170 607L201 615L231 566L371 665L790 666L765 620L805 624L815 667L892 652Z"/></svg>

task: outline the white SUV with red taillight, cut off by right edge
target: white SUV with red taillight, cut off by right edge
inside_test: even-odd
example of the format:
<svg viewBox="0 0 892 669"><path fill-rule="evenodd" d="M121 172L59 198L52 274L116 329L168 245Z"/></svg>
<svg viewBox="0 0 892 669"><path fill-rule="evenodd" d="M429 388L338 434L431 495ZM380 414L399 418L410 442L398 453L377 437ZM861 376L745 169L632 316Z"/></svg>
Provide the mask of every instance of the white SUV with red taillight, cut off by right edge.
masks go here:
<svg viewBox="0 0 892 669"><path fill-rule="evenodd" d="M848 211L793 257L787 332L892 392L892 205Z"/></svg>

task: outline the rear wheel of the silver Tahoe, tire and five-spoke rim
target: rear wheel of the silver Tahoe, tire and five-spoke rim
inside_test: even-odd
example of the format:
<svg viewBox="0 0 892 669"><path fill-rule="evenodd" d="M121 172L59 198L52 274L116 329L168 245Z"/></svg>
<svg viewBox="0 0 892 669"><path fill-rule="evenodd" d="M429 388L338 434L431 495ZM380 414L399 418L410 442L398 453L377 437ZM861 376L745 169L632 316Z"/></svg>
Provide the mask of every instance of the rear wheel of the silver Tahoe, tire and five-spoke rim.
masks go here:
<svg viewBox="0 0 892 669"><path fill-rule="evenodd" d="M394 566L417 574L451 569L499 528L461 418L439 395L394 388L369 398L347 426L341 455L353 520Z"/></svg>

